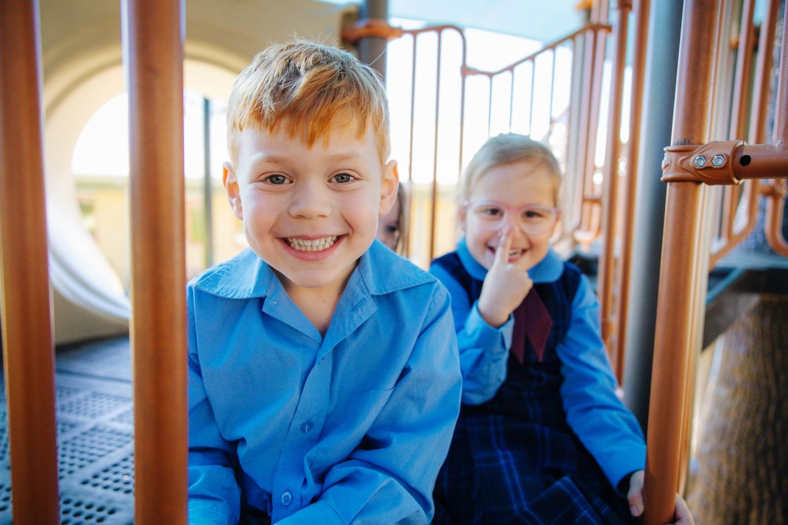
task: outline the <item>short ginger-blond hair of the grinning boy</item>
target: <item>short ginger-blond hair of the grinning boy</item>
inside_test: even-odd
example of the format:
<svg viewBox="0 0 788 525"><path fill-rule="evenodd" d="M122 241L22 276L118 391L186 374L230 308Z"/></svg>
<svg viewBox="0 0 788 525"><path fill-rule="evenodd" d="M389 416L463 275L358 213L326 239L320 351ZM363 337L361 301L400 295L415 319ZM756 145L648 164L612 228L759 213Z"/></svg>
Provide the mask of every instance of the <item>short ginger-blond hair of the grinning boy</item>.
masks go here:
<svg viewBox="0 0 788 525"><path fill-rule="evenodd" d="M292 138L312 146L328 140L332 124L355 124L362 139L374 133L381 165L391 149L385 87L374 69L346 51L306 40L267 47L232 84L227 106L227 150L238 159L246 128L272 132L288 128Z"/></svg>

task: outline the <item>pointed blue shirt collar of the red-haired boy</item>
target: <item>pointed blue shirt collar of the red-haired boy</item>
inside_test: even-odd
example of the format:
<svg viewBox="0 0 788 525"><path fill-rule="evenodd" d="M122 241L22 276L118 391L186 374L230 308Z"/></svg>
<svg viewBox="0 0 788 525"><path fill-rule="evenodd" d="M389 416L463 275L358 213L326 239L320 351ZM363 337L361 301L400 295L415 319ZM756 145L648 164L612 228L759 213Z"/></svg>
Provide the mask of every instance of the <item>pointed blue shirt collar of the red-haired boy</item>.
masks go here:
<svg viewBox="0 0 788 525"><path fill-rule="evenodd" d="M208 268L195 277L192 283L199 290L223 298L262 298L273 290L273 276L271 267L251 248L247 248L229 261ZM380 295L434 280L432 275L375 240L370 249L362 254L351 279L348 279L348 285L366 287L366 290L359 291Z"/></svg>

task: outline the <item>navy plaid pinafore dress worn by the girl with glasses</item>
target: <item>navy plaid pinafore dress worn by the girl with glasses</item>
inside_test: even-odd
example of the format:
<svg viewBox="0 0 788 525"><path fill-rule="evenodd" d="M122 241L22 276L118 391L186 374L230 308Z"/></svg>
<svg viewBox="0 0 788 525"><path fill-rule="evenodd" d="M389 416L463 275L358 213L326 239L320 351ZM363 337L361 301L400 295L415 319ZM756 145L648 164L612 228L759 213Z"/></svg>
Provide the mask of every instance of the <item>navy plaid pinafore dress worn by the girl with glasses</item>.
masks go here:
<svg viewBox="0 0 788 525"><path fill-rule="evenodd" d="M433 261L466 290L473 304L482 281L456 252ZM630 523L617 494L567 424L556 345L571 323L581 272L571 263L553 283L536 283L552 317L543 360L526 338L525 361L507 362L507 379L482 405L463 405L435 486L433 523Z"/></svg>

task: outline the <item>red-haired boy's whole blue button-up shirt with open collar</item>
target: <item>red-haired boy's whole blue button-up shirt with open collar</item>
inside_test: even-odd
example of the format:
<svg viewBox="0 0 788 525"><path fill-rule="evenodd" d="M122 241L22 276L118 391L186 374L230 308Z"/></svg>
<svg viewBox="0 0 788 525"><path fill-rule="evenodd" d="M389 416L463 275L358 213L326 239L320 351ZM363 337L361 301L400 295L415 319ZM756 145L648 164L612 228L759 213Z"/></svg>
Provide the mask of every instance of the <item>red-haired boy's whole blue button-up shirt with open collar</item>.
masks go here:
<svg viewBox="0 0 788 525"><path fill-rule="evenodd" d="M190 523L432 518L461 394L432 275L374 242L324 338L245 250L189 283L188 330Z"/></svg>

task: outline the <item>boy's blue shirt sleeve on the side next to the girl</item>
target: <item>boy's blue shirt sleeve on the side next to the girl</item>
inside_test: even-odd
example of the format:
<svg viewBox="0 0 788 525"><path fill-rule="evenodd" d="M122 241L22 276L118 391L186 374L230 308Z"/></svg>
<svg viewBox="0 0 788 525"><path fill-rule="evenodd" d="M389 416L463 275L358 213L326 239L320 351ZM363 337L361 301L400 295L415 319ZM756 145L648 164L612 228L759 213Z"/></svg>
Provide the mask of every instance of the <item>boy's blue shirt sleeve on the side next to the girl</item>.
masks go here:
<svg viewBox="0 0 788 525"><path fill-rule="evenodd" d="M303 523L429 523L437 473L452 441L462 390L449 297L436 285L400 379L347 460L325 475L314 504L282 519Z"/></svg>

